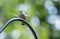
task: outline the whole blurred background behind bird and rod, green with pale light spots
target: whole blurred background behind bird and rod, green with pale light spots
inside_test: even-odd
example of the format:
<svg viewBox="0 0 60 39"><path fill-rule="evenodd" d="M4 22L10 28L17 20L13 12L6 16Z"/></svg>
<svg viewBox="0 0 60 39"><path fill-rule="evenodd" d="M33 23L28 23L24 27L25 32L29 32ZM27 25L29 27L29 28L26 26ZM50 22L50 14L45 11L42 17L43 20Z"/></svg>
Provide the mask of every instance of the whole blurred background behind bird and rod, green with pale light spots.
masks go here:
<svg viewBox="0 0 60 39"><path fill-rule="evenodd" d="M60 39L60 0L0 0L0 27L23 11L38 39ZM0 39L34 39L26 25L15 21L0 33Z"/></svg>

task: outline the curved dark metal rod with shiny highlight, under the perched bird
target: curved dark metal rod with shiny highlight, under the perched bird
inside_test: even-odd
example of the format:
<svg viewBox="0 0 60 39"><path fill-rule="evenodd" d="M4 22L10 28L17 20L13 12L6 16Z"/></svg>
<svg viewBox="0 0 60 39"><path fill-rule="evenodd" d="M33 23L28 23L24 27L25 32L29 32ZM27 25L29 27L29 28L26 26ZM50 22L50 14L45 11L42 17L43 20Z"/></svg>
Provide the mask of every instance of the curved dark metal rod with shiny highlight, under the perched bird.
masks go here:
<svg viewBox="0 0 60 39"><path fill-rule="evenodd" d="M7 27L8 24L10 24L10 23L13 22L13 21L21 21L21 22L24 22L24 23L27 25L27 27L29 27L29 29L31 30L31 32L33 33L35 39L38 39L38 37L37 37L34 29L33 29L25 20L23 20L23 19L21 19L21 18L12 18L12 19L10 19L9 21L7 21L7 22L0 28L0 33Z"/></svg>

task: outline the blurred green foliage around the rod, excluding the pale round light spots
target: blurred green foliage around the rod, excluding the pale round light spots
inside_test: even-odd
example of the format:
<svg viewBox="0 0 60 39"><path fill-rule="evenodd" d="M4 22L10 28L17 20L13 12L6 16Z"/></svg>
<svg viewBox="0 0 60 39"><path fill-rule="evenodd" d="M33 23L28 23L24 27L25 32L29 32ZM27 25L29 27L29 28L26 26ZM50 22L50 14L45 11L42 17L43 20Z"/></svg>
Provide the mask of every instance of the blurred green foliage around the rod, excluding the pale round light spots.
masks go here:
<svg viewBox="0 0 60 39"><path fill-rule="evenodd" d="M39 18L40 24L37 26L32 25L37 33L39 39L50 39L50 26L46 20L49 16L48 10L44 7L46 0L0 0L0 26L7 22L11 18L15 18L14 14L20 14L17 9L19 4L30 4L31 8L26 11L27 22L31 24L31 19L34 16ZM54 2L54 5L58 9L58 15L60 15L60 1ZM25 7L24 7L25 8ZM20 8L19 8L20 9ZM26 27L26 25L21 25L21 22L12 22L4 30L7 36L5 39L15 39L12 37L12 32L18 30L21 34L17 39L34 39L31 31ZM57 30L53 29L53 39L60 39L60 35L55 38L55 34L58 33ZM54 34L55 33L55 34Z"/></svg>

